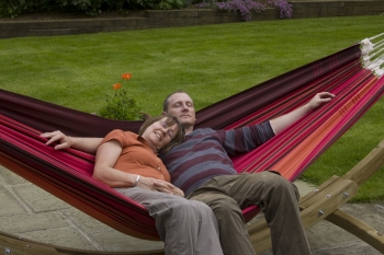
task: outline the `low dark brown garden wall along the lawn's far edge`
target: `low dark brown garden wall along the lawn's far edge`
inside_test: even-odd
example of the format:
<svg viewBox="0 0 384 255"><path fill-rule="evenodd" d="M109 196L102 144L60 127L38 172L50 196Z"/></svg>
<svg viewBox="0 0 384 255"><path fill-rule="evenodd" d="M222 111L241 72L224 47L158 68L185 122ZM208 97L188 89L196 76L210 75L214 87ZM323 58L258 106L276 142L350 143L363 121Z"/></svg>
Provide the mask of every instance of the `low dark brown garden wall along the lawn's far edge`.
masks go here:
<svg viewBox="0 0 384 255"><path fill-rule="evenodd" d="M292 1L292 19L379 15L384 13L383 0L357 1ZM253 14L253 21L280 19L278 9ZM82 19L55 21L3 21L0 38L24 36L72 35L114 31L146 30L176 26L242 22L239 14L216 10L146 11L142 18Z"/></svg>

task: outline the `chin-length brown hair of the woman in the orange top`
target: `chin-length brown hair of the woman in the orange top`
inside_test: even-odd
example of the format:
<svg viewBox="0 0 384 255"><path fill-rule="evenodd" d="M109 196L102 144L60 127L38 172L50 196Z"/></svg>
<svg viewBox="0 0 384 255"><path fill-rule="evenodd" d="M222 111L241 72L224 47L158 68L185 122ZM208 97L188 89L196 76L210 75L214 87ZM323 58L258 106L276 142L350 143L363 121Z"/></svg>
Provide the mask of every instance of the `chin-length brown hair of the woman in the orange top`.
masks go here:
<svg viewBox="0 0 384 255"><path fill-rule="evenodd" d="M182 127L182 125L179 123L179 120L176 117L171 117L171 116L157 116L157 117L150 117L147 120L144 121L144 124L142 125L140 129L138 130L138 135L143 136L143 134L145 132L145 130L153 125L156 121L159 121L161 119L165 119L165 123L167 124L168 127L173 126L174 124L178 126L178 130L173 134L173 138L171 139L171 141L161 148L161 150L159 151L159 153L167 153L168 151L170 151L173 147L180 144L181 142L184 141L184 136L185 136L185 131L184 128Z"/></svg>

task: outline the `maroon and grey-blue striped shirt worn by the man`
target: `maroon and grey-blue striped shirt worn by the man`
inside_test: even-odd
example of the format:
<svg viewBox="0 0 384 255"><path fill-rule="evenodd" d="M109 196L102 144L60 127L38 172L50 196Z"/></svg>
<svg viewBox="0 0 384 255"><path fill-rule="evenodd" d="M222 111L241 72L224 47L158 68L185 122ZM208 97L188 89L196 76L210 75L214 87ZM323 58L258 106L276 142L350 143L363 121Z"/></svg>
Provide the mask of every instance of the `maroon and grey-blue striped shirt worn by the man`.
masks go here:
<svg viewBox="0 0 384 255"><path fill-rule="evenodd" d="M214 176L236 174L229 155L251 151L273 136L269 121L230 130L199 128L160 158L172 184L188 196Z"/></svg>

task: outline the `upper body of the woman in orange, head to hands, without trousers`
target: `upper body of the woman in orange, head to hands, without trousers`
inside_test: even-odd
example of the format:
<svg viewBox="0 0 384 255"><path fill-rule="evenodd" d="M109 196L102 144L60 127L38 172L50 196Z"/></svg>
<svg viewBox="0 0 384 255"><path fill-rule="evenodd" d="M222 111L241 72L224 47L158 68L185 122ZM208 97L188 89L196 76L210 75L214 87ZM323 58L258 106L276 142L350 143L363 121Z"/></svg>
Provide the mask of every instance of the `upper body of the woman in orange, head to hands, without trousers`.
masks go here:
<svg viewBox="0 0 384 255"><path fill-rule="evenodd" d="M183 192L170 184L169 173L157 157L183 138L179 121L163 116L146 120L138 135L113 130L97 150L93 177L114 188L139 186L183 197Z"/></svg>

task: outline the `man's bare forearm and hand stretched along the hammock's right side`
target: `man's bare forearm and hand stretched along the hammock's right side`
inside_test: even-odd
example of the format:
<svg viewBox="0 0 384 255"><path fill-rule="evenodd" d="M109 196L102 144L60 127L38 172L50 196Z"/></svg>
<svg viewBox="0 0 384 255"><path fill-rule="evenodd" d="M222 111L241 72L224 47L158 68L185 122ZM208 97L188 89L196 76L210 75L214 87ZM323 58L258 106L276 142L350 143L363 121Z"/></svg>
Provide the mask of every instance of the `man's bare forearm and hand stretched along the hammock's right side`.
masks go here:
<svg viewBox="0 0 384 255"><path fill-rule="evenodd" d="M304 115L306 115L313 109L318 108L321 104L330 102L334 97L335 95L329 92L317 93L305 105L292 111L291 113L271 119L270 124L274 134L278 135L279 132L283 131L285 128L287 128L289 126L297 121L300 118L302 118Z"/></svg>

